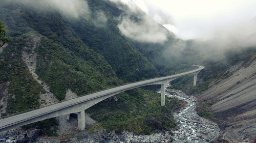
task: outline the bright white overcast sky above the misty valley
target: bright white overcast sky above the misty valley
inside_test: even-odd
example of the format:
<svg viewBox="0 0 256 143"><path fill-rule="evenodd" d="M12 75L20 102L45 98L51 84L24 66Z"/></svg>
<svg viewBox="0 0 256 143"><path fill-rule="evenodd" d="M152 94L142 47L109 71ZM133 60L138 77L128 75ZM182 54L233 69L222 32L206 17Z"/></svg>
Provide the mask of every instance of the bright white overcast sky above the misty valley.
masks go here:
<svg viewBox="0 0 256 143"><path fill-rule="evenodd" d="M142 10L182 39L236 35L256 16L255 0L133 0ZM253 26L255 27L255 26ZM248 27L250 28L250 27Z"/></svg>

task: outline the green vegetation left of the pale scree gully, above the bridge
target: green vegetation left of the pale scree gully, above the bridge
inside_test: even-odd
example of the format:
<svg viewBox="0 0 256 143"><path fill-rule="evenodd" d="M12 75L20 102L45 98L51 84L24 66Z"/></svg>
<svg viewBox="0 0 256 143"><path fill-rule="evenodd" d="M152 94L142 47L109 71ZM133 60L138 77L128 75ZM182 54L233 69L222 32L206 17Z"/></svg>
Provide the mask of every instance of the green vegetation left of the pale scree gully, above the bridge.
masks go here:
<svg viewBox="0 0 256 143"><path fill-rule="evenodd" d="M8 113L38 107L38 95L40 92L45 92L22 60L22 49L29 44L29 37L15 37L10 40L8 48L0 53L0 81L1 83L10 81Z"/></svg>

